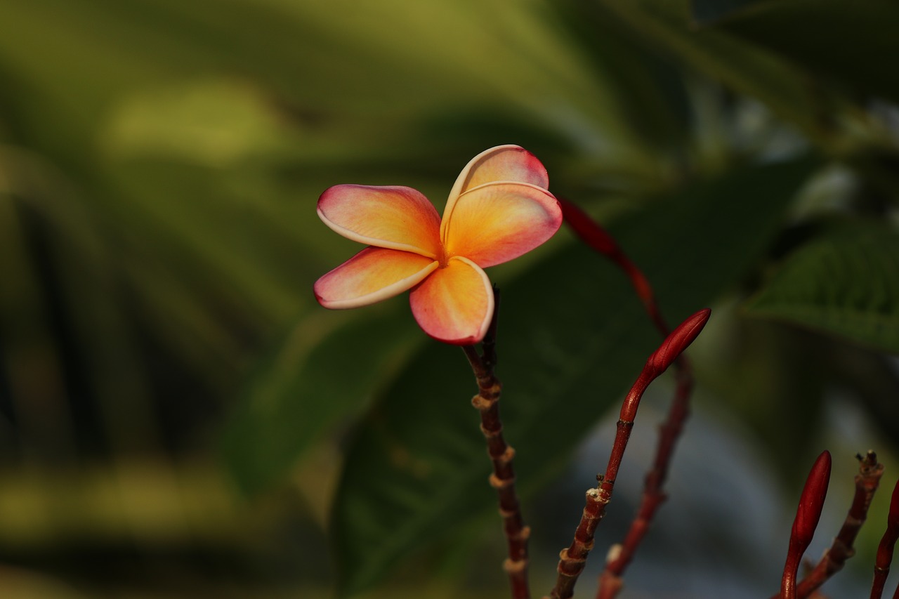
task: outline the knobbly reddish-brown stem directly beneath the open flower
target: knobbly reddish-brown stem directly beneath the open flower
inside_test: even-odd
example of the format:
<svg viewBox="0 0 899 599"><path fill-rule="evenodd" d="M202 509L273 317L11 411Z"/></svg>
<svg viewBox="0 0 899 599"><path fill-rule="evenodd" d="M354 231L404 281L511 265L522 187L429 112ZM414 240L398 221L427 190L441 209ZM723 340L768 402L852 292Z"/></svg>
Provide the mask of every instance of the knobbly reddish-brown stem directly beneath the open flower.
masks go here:
<svg viewBox="0 0 899 599"><path fill-rule="evenodd" d="M484 353L477 353L474 345L465 345L462 349L475 372L478 393L472 398L471 403L481 415L481 432L486 439L487 453L494 467L490 475L490 486L496 489L499 499L499 512L503 517L503 532L509 555L503 562L503 569L509 576L512 599L530 599L528 588L530 528L524 525L518 494L515 492L515 470L512 468L515 450L503 439L503 422L500 420L499 410L502 386L494 375L496 314L494 310L494 320L483 344Z"/></svg>

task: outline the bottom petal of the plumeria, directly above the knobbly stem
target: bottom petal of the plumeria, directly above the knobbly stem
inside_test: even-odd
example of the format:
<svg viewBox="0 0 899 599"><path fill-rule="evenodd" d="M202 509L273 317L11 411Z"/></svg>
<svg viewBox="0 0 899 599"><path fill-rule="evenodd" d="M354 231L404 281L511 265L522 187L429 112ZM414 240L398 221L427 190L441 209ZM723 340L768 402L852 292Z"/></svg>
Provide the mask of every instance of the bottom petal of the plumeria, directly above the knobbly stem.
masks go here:
<svg viewBox="0 0 899 599"><path fill-rule="evenodd" d="M409 303L418 325L448 344L476 344L494 316L494 290L486 273L467 258L450 258L412 293Z"/></svg>

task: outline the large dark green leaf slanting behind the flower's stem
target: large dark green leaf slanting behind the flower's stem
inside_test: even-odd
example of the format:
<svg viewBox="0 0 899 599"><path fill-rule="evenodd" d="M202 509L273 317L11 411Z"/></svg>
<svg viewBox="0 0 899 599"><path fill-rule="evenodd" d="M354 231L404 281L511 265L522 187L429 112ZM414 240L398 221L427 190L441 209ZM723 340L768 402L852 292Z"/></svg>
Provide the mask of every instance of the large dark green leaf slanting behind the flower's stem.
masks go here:
<svg viewBox="0 0 899 599"><path fill-rule="evenodd" d="M746 272L812 165L746 168L656 201L613 228L672 324ZM564 463L660 341L624 276L581 245L503 289L497 373L523 490ZM461 352L428 344L360 426L333 508L343 595L494 505L468 401L475 392Z"/></svg>

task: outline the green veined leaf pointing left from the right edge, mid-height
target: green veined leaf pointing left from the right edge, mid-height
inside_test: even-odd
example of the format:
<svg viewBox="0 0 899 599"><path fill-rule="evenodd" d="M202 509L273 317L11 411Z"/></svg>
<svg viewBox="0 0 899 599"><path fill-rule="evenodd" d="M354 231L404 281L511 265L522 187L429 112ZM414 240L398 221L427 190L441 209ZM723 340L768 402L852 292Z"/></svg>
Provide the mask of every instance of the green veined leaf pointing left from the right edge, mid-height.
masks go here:
<svg viewBox="0 0 899 599"><path fill-rule="evenodd" d="M785 320L899 353L899 232L883 223L843 223L789 255L746 304L755 317Z"/></svg>

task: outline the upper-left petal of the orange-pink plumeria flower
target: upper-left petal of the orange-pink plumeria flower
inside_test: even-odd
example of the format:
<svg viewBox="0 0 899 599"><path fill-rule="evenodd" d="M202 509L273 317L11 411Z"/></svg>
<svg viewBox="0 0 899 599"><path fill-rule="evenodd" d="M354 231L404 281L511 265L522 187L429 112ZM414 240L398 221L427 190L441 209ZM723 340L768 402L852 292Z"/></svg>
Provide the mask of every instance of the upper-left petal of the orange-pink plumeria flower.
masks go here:
<svg viewBox="0 0 899 599"><path fill-rule="evenodd" d="M441 255L440 215L411 187L334 185L318 199L318 216L353 241L429 258Z"/></svg>

